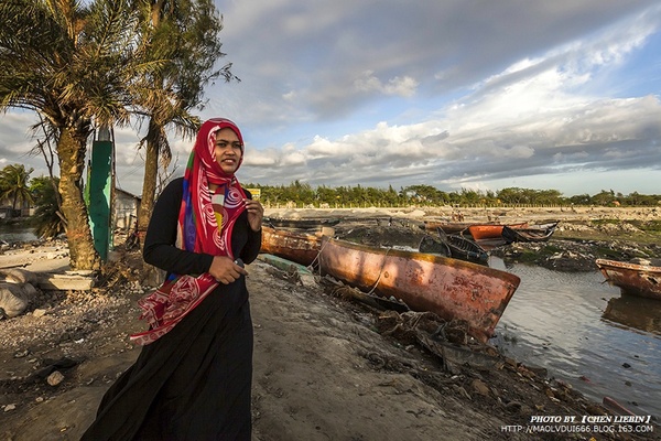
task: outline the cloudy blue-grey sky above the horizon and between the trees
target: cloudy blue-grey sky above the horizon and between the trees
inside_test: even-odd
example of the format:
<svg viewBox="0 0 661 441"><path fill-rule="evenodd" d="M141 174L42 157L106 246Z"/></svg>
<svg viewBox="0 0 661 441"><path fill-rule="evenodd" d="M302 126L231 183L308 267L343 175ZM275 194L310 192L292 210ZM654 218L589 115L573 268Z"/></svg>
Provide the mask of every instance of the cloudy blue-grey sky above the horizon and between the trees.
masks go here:
<svg viewBox="0 0 661 441"><path fill-rule="evenodd" d="M241 128L243 184L661 194L659 0L216 1L240 82L203 119ZM0 114L0 168L45 162ZM144 127L115 128L140 195ZM193 140L171 138L174 175Z"/></svg>

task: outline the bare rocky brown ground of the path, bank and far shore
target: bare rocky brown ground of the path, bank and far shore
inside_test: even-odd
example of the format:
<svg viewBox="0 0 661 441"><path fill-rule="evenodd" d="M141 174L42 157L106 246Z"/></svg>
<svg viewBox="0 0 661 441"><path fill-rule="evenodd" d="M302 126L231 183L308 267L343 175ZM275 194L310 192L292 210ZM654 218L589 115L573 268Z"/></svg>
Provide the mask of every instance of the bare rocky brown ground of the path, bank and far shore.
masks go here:
<svg viewBox="0 0 661 441"><path fill-rule="evenodd" d="M325 213L338 214L344 218L336 230L345 238L411 247L424 235L418 225L425 215L449 215L415 209ZM594 270L597 257L661 257L653 232L657 213L618 218L620 214L535 213L539 218L565 216L551 241L491 252L506 261L559 270ZM476 222L519 216L465 215ZM41 291L25 314L0 321L3 439L78 439L104 391L136 358L138 349L127 336L142 330L136 300L150 287L141 281L139 254L121 247L118 254L102 275L102 287ZM542 369L507 358L494 347L469 340L457 345L465 340L460 323L356 303L348 300L354 295L346 288L324 279L304 286L294 273L260 260L248 271L256 332L256 440L661 439L655 419L644 424L646 433L637 433L636 424L531 422L535 417L582 420L618 411L616 405L586 400ZM448 331L447 340L436 333L441 325Z"/></svg>

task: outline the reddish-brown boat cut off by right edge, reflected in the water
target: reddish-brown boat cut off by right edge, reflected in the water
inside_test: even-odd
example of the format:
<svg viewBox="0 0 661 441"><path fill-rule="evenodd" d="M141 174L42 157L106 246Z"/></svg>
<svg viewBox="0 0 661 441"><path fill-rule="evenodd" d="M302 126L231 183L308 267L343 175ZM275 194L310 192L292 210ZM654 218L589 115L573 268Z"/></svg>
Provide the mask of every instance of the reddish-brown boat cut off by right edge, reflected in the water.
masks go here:
<svg viewBox="0 0 661 441"><path fill-rule="evenodd" d="M661 300L661 267L608 259L596 263L606 281L622 293Z"/></svg>

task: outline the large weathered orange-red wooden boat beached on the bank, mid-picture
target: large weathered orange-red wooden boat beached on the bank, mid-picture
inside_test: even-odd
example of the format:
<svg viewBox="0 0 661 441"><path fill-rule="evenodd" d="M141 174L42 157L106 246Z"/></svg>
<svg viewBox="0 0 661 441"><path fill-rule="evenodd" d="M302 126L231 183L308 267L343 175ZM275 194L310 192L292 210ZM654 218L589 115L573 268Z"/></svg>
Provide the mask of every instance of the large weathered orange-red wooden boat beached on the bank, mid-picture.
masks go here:
<svg viewBox="0 0 661 441"><path fill-rule="evenodd" d="M464 320L480 342L494 329L519 287L506 271L443 256L376 248L322 238L319 270L353 287L401 299L414 311Z"/></svg>

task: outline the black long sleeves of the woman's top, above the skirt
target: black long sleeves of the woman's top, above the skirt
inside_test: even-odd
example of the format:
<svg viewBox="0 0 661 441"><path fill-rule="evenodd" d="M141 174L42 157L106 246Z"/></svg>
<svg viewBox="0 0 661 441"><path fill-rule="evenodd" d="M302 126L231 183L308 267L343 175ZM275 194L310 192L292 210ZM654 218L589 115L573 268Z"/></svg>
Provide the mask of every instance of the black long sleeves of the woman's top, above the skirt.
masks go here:
<svg viewBox="0 0 661 441"><path fill-rule="evenodd" d="M144 238L142 257L145 262L165 270L169 275L201 275L208 272L214 256L186 251L174 245L183 181L183 178L173 180L159 196ZM252 198L248 191L245 192ZM241 213L231 236L235 258L240 257L243 262L250 263L257 258L260 247L261 230L253 232L248 224L248 212Z"/></svg>

